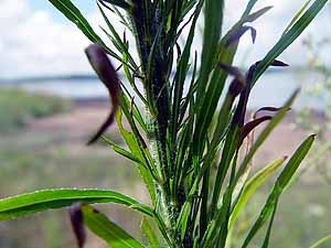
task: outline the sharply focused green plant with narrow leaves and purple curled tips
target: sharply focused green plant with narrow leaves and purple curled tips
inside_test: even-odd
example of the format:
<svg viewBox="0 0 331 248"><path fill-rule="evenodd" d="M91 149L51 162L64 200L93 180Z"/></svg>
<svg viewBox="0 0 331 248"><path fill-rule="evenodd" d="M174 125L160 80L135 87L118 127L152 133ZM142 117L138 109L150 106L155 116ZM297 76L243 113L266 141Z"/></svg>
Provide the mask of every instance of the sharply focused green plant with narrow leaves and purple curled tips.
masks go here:
<svg viewBox="0 0 331 248"><path fill-rule="evenodd" d="M253 11L257 0L247 3L242 18L227 32L222 29L226 18L224 0L100 0L97 3L107 24L103 30L114 48L107 46L70 0L50 2L94 43L86 54L111 98L113 109L89 143L116 120L127 148L105 141L137 165L151 203L143 204L109 190L46 190L1 200L0 219L72 206L70 214L79 247L86 239L84 226L114 248L229 246L238 214L286 161L286 158L269 164L266 161L265 168L249 176L253 157L297 96L295 91L281 108L263 107L252 121L245 122L250 91L268 67L287 66L277 57L296 41L328 0L305 4L279 41L245 74L233 65L241 37L250 32L255 41L256 30L252 23L271 9ZM114 21L107 18L109 11L117 14L126 32L135 37L139 58L131 53L127 33L118 33ZM193 40L202 11L202 51L196 52ZM185 29L188 35L183 34ZM183 45L179 44L181 37L185 41ZM127 83L119 80L106 53L120 62ZM227 78L232 78L228 88L225 87ZM221 99L224 100L220 103ZM145 112L138 108L138 101ZM215 111L218 104L220 111ZM124 118L130 130L122 125ZM269 122L241 155L246 138L265 121ZM287 161L241 247L247 247L265 225L261 247L268 247L279 197L313 140L314 136L308 137ZM96 211L92 206L95 203L116 203L140 212L143 215L141 230L148 244L142 245Z"/></svg>

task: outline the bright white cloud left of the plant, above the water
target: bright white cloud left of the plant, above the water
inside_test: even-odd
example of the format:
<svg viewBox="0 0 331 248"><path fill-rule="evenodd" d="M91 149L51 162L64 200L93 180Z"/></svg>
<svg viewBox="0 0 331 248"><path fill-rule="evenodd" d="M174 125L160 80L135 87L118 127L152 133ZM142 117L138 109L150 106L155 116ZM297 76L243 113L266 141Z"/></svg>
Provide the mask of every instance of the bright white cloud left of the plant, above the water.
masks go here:
<svg viewBox="0 0 331 248"><path fill-rule="evenodd" d="M55 10L54 10L55 11ZM1 77L89 72L87 39L71 24L57 23L24 0L2 0L0 15Z"/></svg>

